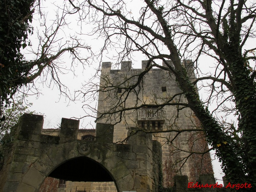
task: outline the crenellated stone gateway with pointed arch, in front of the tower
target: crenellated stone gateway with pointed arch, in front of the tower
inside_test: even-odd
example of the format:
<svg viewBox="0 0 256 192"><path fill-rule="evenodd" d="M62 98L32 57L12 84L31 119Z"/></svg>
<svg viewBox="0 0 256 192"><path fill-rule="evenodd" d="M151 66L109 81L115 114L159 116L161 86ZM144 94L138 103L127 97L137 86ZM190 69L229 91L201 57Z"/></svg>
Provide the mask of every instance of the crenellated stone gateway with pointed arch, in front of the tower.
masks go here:
<svg viewBox="0 0 256 192"><path fill-rule="evenodd" d="M37 192L47 176L63 177L61 170L72 172L79 163L100 172L95 181L112 179L118 192L158 191L161 146L149 134L141 132L129 137L128 144L116 144L113 126L97 124L95 141L77 140L78 120L62 118L59 136L41 134L43 121L40 115L21 116L12 151L1 170L0 191ZM96 178L92 171L83 173L64 177Z"/></svg>

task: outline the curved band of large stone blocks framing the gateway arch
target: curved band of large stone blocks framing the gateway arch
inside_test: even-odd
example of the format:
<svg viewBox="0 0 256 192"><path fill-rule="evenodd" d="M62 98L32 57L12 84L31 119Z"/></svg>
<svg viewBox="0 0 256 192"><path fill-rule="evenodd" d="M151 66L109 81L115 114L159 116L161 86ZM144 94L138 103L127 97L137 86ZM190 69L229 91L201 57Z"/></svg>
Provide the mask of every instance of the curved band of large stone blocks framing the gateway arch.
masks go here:
<svg viewBox="0 0 256 192"><path fill-rule="evenodd" d="M84 145L87 147L90 146L89 149L87 149L88 154L86 155L81 154L81 151L83 151L81 148L83 148ZM71 159L82 156L101 164L113 178L117 191L122 191L124 188L125 190L131 190L133 188L134 182L130 171L122 160L116 158L116 154L113 151L94 142L73 141L64 143L56 148L51 148L40 156L36 162L30 166L28 172L25 173L17 191L37 192L44 179L50 175L53 170Z"/></svg>

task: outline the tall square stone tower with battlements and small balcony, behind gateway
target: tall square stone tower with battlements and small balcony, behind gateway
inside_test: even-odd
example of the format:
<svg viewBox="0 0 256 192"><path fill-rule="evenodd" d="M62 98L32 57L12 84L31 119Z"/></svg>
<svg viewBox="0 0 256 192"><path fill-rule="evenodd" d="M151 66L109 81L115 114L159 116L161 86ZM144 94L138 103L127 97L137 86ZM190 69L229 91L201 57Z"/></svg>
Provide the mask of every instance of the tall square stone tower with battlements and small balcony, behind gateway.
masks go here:
<svg viewBox="0 0 256 192"><path fill-rule="evenodd" d="M193 79L191 62L183 65ZM184 131L200 123L190 108L173 105L186 103L175 76L160 68L144 74L147 65L148 61L142 61L142 68L133 69L131 61L123 61L121 69L111 69L111 62L102 63L98 122L114 124L113 142L126 142L136 132L128 131L131 127L152 133L153 140L162 144L164 187L173 186L175 175L196 181L201 174L213 174L209 153L190 153L206 151L208 146L202 132Z"/></svg>

